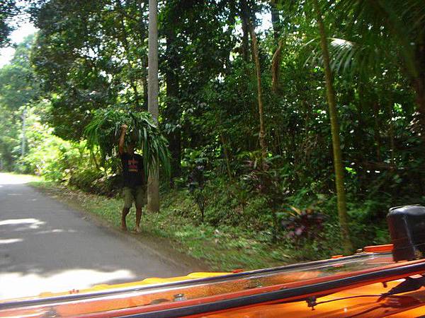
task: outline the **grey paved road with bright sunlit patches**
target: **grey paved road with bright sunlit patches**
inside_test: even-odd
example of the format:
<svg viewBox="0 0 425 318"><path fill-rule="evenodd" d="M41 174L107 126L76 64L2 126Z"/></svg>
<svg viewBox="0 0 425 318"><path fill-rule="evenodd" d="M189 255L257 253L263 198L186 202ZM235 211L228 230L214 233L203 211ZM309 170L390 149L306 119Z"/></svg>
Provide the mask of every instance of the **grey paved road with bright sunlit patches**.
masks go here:
<svg viewBox="0 0 425 318"><path fill-rule="evenodd" d="M0 299L193 271L0 174Z"/></svg>

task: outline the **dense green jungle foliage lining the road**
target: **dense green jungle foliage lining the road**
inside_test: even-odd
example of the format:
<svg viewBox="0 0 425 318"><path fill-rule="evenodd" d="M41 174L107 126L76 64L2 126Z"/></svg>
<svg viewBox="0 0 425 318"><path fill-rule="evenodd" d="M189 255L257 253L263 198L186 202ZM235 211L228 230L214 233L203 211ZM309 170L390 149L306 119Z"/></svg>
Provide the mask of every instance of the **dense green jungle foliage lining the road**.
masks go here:
<svg viewBox="0 0 425 318"><path fill-rule="evenodd" d="M120 167L96 164L84 129L98 110L147 110L148 1L26 3L1 6L0 45L18 9L39 29L0 69L1 169L115 196ZM424 12L421 0L159 1L162 193L193 202L176 213L341 250L328 84L353 247L388 242L387 209L425 199Z"/></svg>

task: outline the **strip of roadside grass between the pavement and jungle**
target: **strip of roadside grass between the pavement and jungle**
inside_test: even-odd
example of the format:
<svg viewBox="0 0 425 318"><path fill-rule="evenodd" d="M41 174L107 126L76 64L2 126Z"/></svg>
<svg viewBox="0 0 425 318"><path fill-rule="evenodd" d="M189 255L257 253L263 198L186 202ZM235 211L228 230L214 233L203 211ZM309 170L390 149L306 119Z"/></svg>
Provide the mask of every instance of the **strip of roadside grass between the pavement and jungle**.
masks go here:
<svg viewBox="0 0 425 318"><path fill-rule="evenodd" d="M87 194L45 180L30 182L30 185L71 202L72 205L107 220L115 227L120 226L120 211L123 205L121 199ZM303 249L297 250L283 244L271 245L269 233L256 232L242 226L215 227L200 223L196 209L196 205L184 190L171 190L162 194L160 213L147 213L144 209L142 231L154 237L165 238L172 249L202 260L212 271L259 269L311 257L306 255ZM135 228L134 208L128 216L128 228Z"/></svg>

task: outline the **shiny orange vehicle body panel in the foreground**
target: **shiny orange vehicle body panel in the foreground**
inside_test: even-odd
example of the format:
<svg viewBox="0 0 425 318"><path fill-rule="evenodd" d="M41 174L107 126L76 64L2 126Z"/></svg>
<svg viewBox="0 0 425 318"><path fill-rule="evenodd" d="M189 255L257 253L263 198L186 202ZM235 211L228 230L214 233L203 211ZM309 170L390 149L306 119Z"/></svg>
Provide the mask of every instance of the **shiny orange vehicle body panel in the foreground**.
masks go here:
<svg viewBox="0 0 425 318"><path fill-rule="evenodd" d="M252 305L240 305L223 310L185 314L180 317L398 318L425 315L424 287L380 299L382 293L387 293L390 288L397 286L403 278L425 273L425 259L395 263L392 261L391 254L387 253L391 248L390 246L377 247L368 249L373 252L351 258L338 256L319 263L297 264L265 271L191 273L188 276L175 278L148 278L135 283L97 285L89 290L71 290L67 293L42 293L36 298L0 301L0 317L35 318L54 315L54 317L104 318L132 314L151 314L149 317L155 317L152 314L162 310L202 307L223 301L280 293L282 290L297 290L297 288L307 289L305 293L299 295L264 300ZM398 272L399 269L404 271ZM388 271L391 273L387 274ZM382 273L383 276L377 276L376 273ZM351 281L344 283L353 277L361 277L361 279L353 283ZM204 278L207 280L204 281ZM310 286L336 281L342 284L329 285L329 288L319 291L308 289ZM110 293L111 291L113 293ZM91 294L103 292L108 295ZM176 294L183 296L176 300ZM67 295L88 296L66 299ZM91 297L92 295L94 296ZM317 302L313 307L314 310L308 306L307 298L311 300L314 298ZM26 302L28 300L35 300L35 302L44 300L46 303L31 305L33 304L31 302L28 305ZM13 303L16 301L17 303Z"/></svg>

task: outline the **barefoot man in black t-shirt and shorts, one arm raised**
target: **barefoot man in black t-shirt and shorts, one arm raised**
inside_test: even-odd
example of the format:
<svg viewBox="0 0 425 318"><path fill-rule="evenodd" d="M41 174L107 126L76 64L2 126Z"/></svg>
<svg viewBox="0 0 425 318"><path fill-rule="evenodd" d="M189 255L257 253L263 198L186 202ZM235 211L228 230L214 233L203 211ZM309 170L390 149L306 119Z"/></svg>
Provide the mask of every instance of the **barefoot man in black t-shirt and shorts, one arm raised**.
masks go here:
<svg viewBox="0 0 425 318"><path fill-rule="evenodd" d="M145 204L145 173L143 170L143 158L135 153L135 145L128 143L127 150L124 148L125 132L128 126L121 126L121 136L118 143L121 163L123 164L123 195L124 207L121 216L121 228L127 230L125 218L130 212L132 203L136 206L136 232L140 232L140 218L142 218L142 206Z"/></svg>

